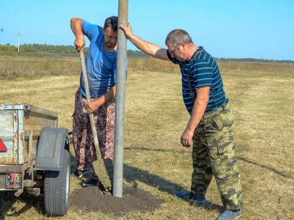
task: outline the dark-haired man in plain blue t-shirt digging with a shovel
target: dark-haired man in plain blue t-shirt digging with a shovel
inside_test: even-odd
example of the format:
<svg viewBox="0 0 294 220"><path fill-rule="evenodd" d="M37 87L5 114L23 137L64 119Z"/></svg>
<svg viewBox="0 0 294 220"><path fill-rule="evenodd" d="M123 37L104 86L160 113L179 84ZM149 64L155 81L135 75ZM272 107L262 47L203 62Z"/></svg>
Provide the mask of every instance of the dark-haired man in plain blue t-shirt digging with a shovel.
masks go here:
<svg viewBox="0 0 294 220"><path fill-rule="evenodd" d="M73 148L78 161L76 175L82 177L88 172L94 174L92 160L97 159L89 113L94 113L102 157L107 159L113 156L118 17L107 18L104 27L99 27L80 18L72 18L71 30L76 36L74 44L78 52L84 50L84 35L90 40L85 66L91 102L87 103L83 75L81 74L73 112ZM92 147L93 155L91 155L90 147ZM90 179L86 185L97 185L97 176L94 174L93 179Z"/></svg>

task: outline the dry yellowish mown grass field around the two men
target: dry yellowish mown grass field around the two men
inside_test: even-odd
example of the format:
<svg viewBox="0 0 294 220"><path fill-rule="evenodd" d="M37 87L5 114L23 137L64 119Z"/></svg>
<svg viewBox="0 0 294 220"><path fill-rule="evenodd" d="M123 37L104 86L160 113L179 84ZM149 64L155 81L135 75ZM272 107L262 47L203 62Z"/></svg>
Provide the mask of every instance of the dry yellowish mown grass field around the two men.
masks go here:
<svg viewBox="0 0 294 220"><path fill-rule="evenodd" d="M294 219L294 64L219 62L235 112L235 145L244 207L241 219ZM0 57L0 103L29 103L58 113L71 130L80 65L77 57ZM154 212L120 219L215 219L221 198L213 180L204 206L176 200L190 189L191 149L180 135L189 115L181 98L179 67L167 61L130 59L125 109L124 182L163 203ZM71 148L71 153L73 150ZM71 177L71 190L78 189ZM45 217L43 199L0 192L0 219ZM70 207L57 219L116 219Z"/></svg>

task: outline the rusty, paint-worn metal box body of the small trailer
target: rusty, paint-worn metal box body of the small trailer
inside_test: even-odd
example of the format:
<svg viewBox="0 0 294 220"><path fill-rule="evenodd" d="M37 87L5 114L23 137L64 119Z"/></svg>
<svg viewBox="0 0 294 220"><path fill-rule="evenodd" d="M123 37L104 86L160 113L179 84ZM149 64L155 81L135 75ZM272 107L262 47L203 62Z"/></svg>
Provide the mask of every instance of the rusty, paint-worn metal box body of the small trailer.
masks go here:
<svg viewBox="0 0 294 220"><path fill-rule="evenodd" d="M29 171L29 186L34 184L34 166L38 137L44 126L57 126L57 114L28 104L0 103L0 138L7 152L0 152L0 191L6 189L6 173L21 173L23 192L25 173Z"/></svg>

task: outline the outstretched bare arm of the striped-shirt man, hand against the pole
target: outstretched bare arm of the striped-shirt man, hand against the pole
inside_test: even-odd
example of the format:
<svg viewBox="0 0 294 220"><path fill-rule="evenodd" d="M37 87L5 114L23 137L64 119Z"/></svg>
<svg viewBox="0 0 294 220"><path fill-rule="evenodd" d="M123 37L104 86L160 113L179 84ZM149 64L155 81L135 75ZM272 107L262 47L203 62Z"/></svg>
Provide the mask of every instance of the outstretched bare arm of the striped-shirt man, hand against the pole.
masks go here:
<svg viewBox="0 0 294 220"><path fill-rule="evenodd" d="M127 27L120 25L120 28L125 31L125 36L127 36L127 39L129 39L136 47L138 47L139 50L142 50L151 57L169 60L169 57L167 57L166 49L163 49L162 47L155 45L154 43L144 41L141 38L134 36L130 24L127 24Z"/></svg>

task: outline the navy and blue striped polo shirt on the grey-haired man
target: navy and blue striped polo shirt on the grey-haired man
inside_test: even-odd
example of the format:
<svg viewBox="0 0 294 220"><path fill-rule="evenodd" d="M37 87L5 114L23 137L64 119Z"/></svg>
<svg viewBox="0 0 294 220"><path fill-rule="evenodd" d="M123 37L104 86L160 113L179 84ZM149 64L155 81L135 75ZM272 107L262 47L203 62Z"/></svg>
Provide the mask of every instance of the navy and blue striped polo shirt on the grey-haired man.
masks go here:
<svg viewBox="0 0 294 220"><path fill-rule="evenodd" d="M182 73L182 91L183 101L189 114L192 114L194 101L190 96L190 89L188 85L187 76L189 74L191 87L197 97L196 88L209 86L209 102L205 112L213 111L219 108L224 103L228 103L228 98L225 98L225 91L223 90L223 80L221 79L221 72L218 69L218 64L211 55L204 50L195 56L197 51L204 50L200 47L195 51L190 61L181 62L178 59L172 58L169 50L167 56L174 64L179 64Z"/></svg>

